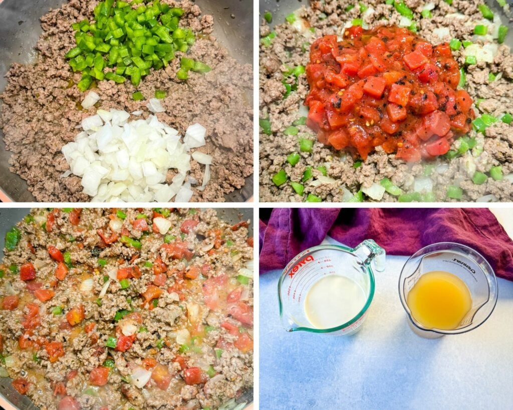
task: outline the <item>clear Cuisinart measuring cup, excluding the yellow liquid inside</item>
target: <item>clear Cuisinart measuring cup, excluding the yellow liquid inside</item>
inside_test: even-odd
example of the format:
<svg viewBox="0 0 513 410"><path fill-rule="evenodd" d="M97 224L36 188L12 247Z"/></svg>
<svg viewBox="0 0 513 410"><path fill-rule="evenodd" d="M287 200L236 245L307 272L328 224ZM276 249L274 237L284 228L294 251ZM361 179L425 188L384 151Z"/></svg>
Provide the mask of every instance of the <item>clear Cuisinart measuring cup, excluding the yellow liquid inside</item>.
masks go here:
<svg viewBox="0 0 513 410"><path fill-rule="evenodd" d="M431 271L458 276L470 291L471 308L456 329L429 329L411 314L407 303L408 293L423 274ZM460 243L439 242L422 248L406 261L399 276L399 297L408 315L408 324L413 332L428 339L476 329L494 311L497 296L497 278L490 264L481 254Z"/></svg>

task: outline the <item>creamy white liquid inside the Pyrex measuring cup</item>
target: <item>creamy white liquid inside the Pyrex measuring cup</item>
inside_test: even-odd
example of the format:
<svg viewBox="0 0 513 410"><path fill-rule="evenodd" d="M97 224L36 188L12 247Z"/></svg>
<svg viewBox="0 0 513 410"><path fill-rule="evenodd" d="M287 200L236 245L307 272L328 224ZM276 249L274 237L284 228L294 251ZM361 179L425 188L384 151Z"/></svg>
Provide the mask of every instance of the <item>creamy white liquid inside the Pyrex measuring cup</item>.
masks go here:
<svg viewBox="0 0 513 410"><path fill-rule="evenodd" d="M305 314L312 326L329 329L354 318L367 297L360 285L345 276L328 275L317 281L305 299Z"/></svg>

